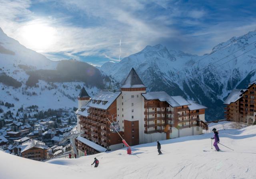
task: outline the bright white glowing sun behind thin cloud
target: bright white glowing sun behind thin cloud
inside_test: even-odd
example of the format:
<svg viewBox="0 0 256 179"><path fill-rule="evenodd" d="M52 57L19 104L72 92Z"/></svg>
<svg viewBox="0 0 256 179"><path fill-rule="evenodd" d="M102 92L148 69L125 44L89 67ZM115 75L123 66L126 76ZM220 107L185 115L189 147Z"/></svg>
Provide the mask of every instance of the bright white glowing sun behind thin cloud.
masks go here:
<svg viewBox="0 0 256 179"><path fill-rule="evenodd" d="M54 44L56 29L42 23L27 24L20 29L20 37L27 48L44 52Z"/></svg>

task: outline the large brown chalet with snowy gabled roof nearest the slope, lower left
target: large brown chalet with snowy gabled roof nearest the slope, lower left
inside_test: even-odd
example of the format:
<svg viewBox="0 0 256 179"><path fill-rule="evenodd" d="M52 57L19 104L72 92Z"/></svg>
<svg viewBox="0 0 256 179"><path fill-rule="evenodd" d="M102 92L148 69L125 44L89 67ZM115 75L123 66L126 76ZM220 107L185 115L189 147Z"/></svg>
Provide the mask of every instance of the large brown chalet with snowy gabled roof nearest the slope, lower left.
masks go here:
<svg viewBox="0 0 256 179"><path fill-rule="evenodd" d="M21 145L21 156L24 158L42 161L47 157L48 146L44 142L30 139Z"/></svg>

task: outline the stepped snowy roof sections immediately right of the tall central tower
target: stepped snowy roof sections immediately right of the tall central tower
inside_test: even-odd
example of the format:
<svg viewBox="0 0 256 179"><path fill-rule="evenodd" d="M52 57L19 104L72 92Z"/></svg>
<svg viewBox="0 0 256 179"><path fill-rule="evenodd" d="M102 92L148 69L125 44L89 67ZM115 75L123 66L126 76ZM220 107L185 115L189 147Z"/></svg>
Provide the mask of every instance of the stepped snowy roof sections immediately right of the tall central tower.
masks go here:
<svg viewBox="0 0 256 179"><path fill-rule="evenodd" d="M169 94L167 94L165 91L147 92L142 93L141 95L147 100L158 99L160 101L166 101L172 107L190 105L190 103L182 96L169 96Z"/></svg>

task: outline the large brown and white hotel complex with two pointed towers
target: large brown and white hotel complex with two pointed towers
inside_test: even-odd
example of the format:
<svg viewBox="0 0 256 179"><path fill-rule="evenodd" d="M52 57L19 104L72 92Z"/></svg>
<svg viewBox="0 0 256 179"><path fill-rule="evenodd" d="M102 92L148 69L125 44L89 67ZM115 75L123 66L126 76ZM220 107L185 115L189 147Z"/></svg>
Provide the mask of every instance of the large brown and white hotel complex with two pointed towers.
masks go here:
<svg viewBox="0 0 256 179"><path fill-rule="evenodd" d="M132 68L120 90L101 90L90 98L84 88L78 96L78 154L98 153L208 130L206 107L164 91L146 92ZM119 129L119 134L112 126Z"/></svg>

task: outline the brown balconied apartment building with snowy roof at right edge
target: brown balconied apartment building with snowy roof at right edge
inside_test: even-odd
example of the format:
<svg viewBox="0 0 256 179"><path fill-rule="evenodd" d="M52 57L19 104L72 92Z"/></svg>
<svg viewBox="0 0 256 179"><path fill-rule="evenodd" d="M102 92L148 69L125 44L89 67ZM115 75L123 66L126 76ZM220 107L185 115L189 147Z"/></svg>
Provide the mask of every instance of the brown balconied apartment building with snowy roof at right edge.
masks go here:
<svg viewBox="0 0 256 179"><path fill-rule="evenodd" d="M256 119L256 81L247 89L234 89L224 101L224 116L233 122L253 124Z"/></svg>

